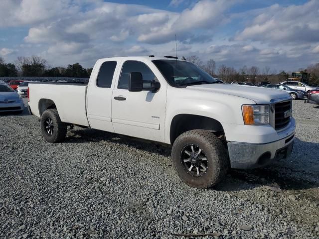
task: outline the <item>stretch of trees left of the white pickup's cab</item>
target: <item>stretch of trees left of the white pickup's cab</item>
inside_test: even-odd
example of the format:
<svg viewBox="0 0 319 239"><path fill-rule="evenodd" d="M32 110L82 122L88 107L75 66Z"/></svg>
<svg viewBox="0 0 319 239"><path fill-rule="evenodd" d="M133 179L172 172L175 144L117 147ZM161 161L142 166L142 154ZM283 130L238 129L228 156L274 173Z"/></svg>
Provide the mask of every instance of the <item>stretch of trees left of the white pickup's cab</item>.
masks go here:
<svg viewBox="0 0 319 239"><path fill-rule="evenodd" d="M0 57L0 76L24 76L24 77L74 77L89 78L93 68L84 68L79 63L67 67L52 67L39 56L19 56L12 63L5 63Z"/></svg>

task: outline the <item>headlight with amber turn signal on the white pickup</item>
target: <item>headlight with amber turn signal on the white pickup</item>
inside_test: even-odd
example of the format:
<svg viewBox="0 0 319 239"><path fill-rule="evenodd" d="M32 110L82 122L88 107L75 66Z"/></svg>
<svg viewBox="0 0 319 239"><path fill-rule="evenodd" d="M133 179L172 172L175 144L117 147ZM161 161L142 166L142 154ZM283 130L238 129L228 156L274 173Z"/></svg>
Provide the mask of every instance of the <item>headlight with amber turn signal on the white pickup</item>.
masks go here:
<svg viewBox="0 0 319 239"><path fill-rule="evenodd" d="M242 112L245 124L269 123L269 105L243 105Z"/></svg>

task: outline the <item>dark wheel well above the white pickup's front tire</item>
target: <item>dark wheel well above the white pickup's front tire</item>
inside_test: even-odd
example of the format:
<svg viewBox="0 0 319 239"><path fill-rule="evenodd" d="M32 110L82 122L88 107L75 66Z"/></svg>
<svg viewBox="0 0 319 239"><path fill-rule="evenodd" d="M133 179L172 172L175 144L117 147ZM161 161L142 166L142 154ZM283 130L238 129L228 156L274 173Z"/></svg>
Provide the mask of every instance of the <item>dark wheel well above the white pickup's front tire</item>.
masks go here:
<svg viewBox="0 0 319 239"><path fill-rule="evenodd" d="M216 119L205 116L181 114L175 116L170 123L170 143L173 144L180 134L192 129L209 130L216 133L218 136L224 132L223 126Z"/></svg>

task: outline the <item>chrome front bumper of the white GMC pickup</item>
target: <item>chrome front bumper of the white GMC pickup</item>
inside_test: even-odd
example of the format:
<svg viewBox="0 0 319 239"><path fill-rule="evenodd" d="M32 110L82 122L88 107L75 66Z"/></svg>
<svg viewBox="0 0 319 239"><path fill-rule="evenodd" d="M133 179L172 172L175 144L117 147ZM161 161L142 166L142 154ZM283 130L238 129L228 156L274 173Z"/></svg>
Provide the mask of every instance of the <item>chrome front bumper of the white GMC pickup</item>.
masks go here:
<svg viewBox="0 0 319 239"><path fill-rule="evenodd" d="M228 142L231 168L251 169L265 166L291 155L295 132L278 141L265 144Z"/></svg>

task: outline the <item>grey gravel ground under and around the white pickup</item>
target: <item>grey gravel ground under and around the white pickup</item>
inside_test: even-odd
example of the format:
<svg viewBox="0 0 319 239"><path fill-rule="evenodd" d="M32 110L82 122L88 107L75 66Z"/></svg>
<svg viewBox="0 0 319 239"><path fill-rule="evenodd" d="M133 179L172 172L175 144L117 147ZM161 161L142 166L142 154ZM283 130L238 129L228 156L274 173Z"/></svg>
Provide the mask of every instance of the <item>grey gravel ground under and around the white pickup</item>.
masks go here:
<svg viewBox="0 0 319 239"><path fill-rule="evenodd" d="M78 127L50 144L27 111L1 115L0 238L319 238L319 109L294 117L289 159L197 190L169 147Z"/></svg>

